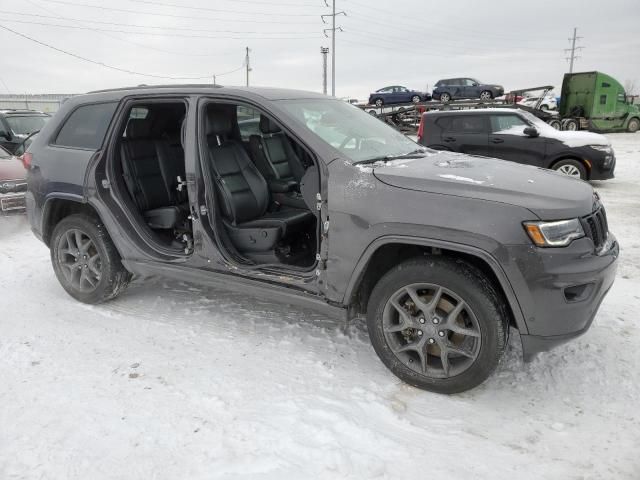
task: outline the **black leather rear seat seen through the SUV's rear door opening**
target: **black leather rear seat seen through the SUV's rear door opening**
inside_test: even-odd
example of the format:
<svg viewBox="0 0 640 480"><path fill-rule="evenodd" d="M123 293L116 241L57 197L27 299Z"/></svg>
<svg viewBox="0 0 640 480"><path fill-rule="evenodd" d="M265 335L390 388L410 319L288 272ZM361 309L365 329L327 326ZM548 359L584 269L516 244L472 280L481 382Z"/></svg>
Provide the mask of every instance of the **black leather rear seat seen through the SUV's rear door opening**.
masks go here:
<svg viewBox="0 0 640 480"><path fill-rule="evenodd" d="M176 228L188 215L187 205L181 204L173 187L179 159L166 142L153 138L147 119L129 120L126 133L121 161L129 192L151 228Z"/></svg>

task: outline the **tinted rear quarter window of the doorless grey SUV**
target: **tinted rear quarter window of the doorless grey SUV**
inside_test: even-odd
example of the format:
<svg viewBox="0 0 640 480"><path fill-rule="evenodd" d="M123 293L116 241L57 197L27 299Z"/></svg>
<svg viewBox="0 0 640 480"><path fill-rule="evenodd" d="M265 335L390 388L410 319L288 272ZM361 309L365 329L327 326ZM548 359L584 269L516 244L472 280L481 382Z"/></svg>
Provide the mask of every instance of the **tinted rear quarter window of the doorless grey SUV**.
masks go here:
<svg viewBox="0 0 640 480"><path fill-rule="evenodd" d="M78 107L67 118L54 143L63 147L97 150L102 145L117 105L113 102Z"/></svg>

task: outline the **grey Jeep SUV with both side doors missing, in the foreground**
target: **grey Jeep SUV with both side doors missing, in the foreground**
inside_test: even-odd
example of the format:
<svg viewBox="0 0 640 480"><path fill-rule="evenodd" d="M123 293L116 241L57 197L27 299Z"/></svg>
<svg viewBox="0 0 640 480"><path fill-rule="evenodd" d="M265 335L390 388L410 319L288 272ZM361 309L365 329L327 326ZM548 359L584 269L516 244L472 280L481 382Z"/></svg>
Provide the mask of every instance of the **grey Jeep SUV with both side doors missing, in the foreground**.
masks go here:
<svg viewBox="0 0 640 480"><path fill-rule="evenodd" d="M246 109L260 134L243 141ZM511 326L526 359L584 333L615 277L588 183L430 151L310 92L80 95L24 163L31 228L77 300L164 275L366 316L384 364L434 392L484 381Z"/></svg>

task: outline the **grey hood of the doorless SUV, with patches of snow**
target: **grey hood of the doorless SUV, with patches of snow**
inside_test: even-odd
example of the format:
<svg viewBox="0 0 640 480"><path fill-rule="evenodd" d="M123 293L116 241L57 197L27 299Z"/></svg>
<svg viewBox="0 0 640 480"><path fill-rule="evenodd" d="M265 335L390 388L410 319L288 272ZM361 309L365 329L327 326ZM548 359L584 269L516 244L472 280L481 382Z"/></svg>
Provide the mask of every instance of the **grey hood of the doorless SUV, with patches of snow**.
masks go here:
<svg viewBox="0 0 640 480"><path fill-rule="evenodd" d="M541 220L580 217L593 206L587 182L494 158L438 151L375 164L373 174L398 188L516 205Z"/></svg>

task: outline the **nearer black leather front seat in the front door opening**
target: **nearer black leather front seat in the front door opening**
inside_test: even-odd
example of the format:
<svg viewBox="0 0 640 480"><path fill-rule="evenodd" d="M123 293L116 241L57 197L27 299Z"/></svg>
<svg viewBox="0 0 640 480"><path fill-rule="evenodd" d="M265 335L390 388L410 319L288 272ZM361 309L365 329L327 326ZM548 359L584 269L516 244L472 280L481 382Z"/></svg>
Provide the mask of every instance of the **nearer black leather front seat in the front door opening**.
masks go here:
<svg viewBox="0 0 640 480"><path fill-rule="evenodd" d="M268 211L267 182L242 144L232 138L233 113L223 107L209 108L206 135L227 232L240 252L269 252L288 234L315 221L308 210L281 208Z"/></svg>

